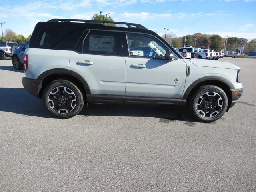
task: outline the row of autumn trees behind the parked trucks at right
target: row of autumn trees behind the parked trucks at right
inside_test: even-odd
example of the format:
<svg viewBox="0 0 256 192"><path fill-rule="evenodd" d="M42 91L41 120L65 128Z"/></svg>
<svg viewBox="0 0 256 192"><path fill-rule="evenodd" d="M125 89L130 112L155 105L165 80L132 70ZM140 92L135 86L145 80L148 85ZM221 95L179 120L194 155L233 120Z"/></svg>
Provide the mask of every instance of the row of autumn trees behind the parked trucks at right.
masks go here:
<svg viewBox="0 0 256 192"><path fill-rule="evenodd" d="M162 35L165 38L165 34ZM203 49L213 49L215 51L221 51L224 49L226 38L222 38L220 35L210 35L195 33L193 35L186 35L183 37L177 37L174 33L166 34L166 41L175 48L181 48L185 45L193 46ZM245 38L229 37L227 40L226 50L237 51L240 46L244 46L244 52L256 51L256 39L248 41Z"/></svg>

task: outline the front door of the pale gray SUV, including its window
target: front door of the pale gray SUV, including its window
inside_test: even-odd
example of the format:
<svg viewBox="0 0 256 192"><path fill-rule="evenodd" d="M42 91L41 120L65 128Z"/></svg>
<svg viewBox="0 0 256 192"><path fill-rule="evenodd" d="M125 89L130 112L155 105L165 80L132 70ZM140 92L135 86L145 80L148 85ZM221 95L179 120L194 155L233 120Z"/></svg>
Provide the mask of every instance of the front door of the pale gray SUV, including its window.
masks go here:
<svg viewBox="0 0 256 192"><path fill-rule="evenodd" d="M186 63L164 60L168 48L154 36L126 33L126 102L179 101L186 80ZM177 104L176 102L176 104Z"/></svg>

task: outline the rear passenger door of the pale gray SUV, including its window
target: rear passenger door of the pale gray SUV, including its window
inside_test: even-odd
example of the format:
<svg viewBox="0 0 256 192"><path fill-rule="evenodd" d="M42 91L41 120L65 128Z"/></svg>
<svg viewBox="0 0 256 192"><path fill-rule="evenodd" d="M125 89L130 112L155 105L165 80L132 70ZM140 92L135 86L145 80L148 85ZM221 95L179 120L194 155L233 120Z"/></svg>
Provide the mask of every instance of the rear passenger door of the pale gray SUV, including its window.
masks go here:
<svg viewBox="0 0 256 192"><path fill-rule="evenodd" d="M124 102L126 68L122 32L88 30L70 56L69 69L86 80L88 102Z"/></svg>

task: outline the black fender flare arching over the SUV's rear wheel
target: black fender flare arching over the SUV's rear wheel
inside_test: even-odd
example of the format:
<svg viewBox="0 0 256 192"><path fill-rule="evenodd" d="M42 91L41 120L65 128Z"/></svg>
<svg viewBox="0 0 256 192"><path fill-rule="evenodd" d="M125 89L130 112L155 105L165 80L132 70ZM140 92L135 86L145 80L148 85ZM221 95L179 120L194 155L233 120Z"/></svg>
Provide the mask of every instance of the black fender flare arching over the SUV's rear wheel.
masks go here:
<svg viewBox="0 0 256 192"><path fill-rule="evenodd" d="M42 74L40 74L40 76L38 76L37 80L44 80L44 78L46 78L50 75L53 75L53 74L67 74L67 75L73 76L74 78L78 79L81 82L81 84L84 86L86 94L91 93L88 83L82 76L80 76L80 74L78 74L77 72L74 72L72 70L68 70L68 69L64 69L64 68L56 68L56 69L47 70L47 71L43 72Z"/></svg>

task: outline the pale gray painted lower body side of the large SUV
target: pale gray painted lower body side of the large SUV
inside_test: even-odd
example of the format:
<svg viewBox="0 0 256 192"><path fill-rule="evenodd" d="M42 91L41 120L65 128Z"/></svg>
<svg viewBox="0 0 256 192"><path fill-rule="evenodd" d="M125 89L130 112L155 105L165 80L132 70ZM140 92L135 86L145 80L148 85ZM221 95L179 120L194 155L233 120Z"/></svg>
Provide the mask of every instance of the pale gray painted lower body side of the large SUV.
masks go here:
<svg viewBox="0 0 256 192"><path fill-rule="evenodd" d="M236 89L243 87L236 82L240 68L227 62L180 58L167 61L37 48L27 48L24 54L29 56L27 78L36 79L50 69L68 69L86 80L91 94L182 98L193 82L206 76L225 78ZM188 66L190 74L186 76Z"/></svg>

